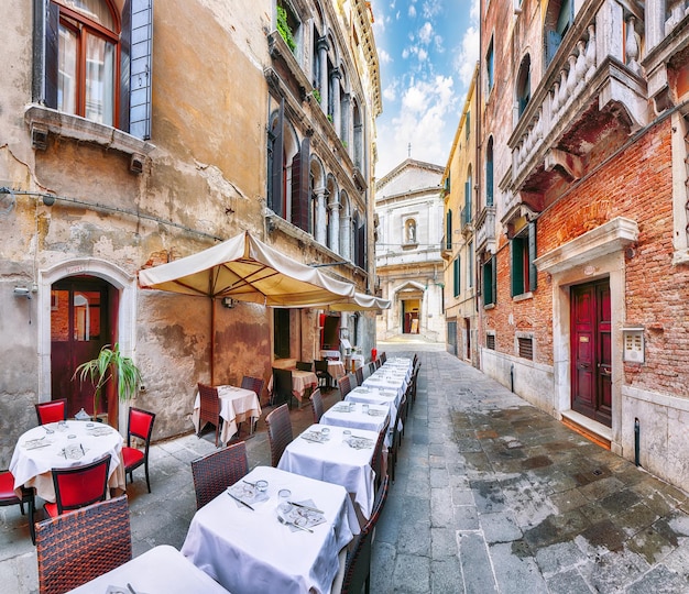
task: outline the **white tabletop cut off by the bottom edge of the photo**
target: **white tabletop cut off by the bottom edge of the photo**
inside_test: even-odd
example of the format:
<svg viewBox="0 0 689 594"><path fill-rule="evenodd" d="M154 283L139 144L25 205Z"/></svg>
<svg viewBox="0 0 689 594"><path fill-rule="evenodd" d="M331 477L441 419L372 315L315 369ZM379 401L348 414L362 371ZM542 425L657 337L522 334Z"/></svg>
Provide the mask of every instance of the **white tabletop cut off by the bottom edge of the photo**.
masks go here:
<svg viewBox="0 0 689 594"><path fill-rule="evenodd" d="M123 565L70 590L68 594L228 594L220 584L169 544L154 547Z"/></svg>

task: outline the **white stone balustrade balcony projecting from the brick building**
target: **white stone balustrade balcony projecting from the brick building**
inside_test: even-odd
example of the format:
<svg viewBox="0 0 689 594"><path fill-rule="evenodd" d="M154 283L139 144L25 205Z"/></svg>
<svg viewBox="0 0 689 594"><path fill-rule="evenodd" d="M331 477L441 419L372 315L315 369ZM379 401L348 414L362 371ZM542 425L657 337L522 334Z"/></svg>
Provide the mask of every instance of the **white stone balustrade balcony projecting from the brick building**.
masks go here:
<svg viewBox="0 0 689 594"><path fill-rule="evenodd" d="M648 123L643 33L643 14L627 4L582 6L507 141L516 202L542 211L554 201L549 189L581 178L601 141L620 143Z"/></svg>

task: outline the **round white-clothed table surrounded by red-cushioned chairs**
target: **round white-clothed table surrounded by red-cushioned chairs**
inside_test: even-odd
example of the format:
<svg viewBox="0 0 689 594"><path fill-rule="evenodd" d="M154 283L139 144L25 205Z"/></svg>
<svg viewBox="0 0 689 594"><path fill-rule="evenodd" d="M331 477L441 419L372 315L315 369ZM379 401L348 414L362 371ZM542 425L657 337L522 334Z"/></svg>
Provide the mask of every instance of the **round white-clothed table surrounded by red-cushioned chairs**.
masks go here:
<svg viewBox="0 0 689 594"><path fill-rule="evenodd" d="M10 461L18 494L22 485L34 487L39 497L54 503L52 469L83 466L106 454L111 457L108 486L127 488L121 457L123 439L117 430L102 422L78 420L68 420L62 427L56 422L40 425L19 438Z"/></svg>

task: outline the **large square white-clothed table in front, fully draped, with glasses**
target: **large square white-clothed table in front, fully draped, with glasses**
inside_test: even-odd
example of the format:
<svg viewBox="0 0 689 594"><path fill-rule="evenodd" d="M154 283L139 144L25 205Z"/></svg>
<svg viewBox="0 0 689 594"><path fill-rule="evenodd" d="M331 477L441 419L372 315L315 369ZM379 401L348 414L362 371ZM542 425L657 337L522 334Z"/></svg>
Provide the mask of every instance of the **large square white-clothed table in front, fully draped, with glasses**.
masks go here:
<svg viewBox="0 0 689 594"><path fill-rule="evenodd" d="M194 515L182 553L232 594L330 592L340 551L360 531L347 492L271 466L256 466L242 483L259 480L269 483L267 501L252 503L252 510L222 492ZM288 501L324 512L313 534L277 520L284 488Z"/></svg>

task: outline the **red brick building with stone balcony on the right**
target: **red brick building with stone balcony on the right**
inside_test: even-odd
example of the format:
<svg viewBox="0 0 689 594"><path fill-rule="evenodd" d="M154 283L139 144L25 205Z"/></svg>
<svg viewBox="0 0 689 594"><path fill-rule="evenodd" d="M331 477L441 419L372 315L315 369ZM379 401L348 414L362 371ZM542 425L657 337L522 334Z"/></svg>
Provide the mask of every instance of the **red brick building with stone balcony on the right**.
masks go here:
<svg viewBox="0 0 689 594"><path fill-rule="evenodd" d="M481 367L687 487L687 4L481 15Z"/></svg>

